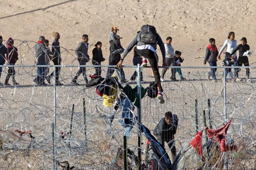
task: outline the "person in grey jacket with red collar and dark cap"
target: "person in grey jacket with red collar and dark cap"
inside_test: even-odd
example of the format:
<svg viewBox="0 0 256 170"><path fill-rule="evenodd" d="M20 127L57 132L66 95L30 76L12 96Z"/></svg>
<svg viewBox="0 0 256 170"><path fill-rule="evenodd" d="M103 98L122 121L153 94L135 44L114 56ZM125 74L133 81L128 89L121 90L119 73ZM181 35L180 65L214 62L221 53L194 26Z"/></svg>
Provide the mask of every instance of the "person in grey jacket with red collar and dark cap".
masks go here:
<svg viewBox="0 0 256 170"><path fill-rule="evenodd" d="M45 46L45 37L40 36L37 44L35 45L35 51L36 51L36 65L37 66L44 66L46 64L46 57L48 55L53 55L51 51L48 51ZM45 81L45 73L46 73L46 67L37 67L37 77L33 80L36 84L40 86L47 85Z"/></svg>

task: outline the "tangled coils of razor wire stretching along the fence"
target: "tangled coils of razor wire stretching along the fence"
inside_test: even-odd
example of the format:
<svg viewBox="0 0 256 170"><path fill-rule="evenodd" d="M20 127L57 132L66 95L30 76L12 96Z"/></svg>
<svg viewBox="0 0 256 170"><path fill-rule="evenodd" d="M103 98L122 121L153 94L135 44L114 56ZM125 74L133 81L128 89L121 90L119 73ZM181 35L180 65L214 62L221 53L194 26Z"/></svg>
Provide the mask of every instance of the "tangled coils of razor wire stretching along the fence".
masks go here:
<svg viewBox="0 0 256 170"><path fill-rule="evenodd" d="M16 81L19 86L0 87L0 117L1 117L1 165L4 169L53 169L54 139L56 139L56 159L68 161L75 169L123 169L122 157L118 156L123 148L125 129L119 125L121 109L113 112L113 107L103 105L103 98L95 93L95 87L86 88L80 78L80 84L71 84L77 71L77 60L74 50L61 48L64 61L61 66L60 81L64 86L56 88L56 133L54 132L54 81L51 85L37 86L33 79L37 75L36 66L26 63L34 61L33 47L36 42L15 40L18 48L19 62L16 66ZM71 61L66 63L66 61ZM87 63L86 74L94 74L91 61ZM4 66L2 79L7 74ZM48 66L52 71L53 66ZM106 77L108 66L102 66L102 77ZM199 130L204 128L203 111L210 112L212 128L219 128L225 120L224 89L226 89L227 118L233 118L228 130L227 140L232 138L238 146L237 151L228 152L230 169L255 168L255 70L250 66L251 82L221 81L223 67L217 68L217 82L207 80L209 67L180 67L185 81L169 81L170 70L166 80L162 82L164 104L157 99L144 97L141 99L141 122L152 132L165 112L172 111L179 118L176 139L177 152L182 144L189 142L196 134L196 110L198 111ZM244 67L243 67L244 68ZM126 79L129 80L137 66L123 67ZM153 81L149 67L140 68L143 71L141 85L146 88ZM159 69L161 71L161 68ZM245 71L240 71L240 78L245 77ZM115 73L116 74L116 73ZM176 75L177 76L177 75ZM179 79L177 77L177 79ZM138 82L137 78L137 82ZM138 83L128 82L132 88ZM123 85L124 86L124 85ZM118 91L118 95L122 92ZM209 100L208 100L209 99ZM195 107L197 100L197 109ZM208 107L209 106L209 107ZM137 109L134 110L137 116ZM115 115L111 134L107 127L112 115ZM209 126L209 117L207 126ZM72 124L72 127L71 127ZM130 131L128 148L138 155L138 126L135 124ZM205 135L205 134L204 134ZM32 136L32 137L31 137ZM141 138L142 160L146 138ZM203 143L206 143L205 136ZM168 146L165 146L168 148ZM170 155L169 149L167 153ZM135 159L135 158L132 158ZM223 165L218 161L220 155L212 161L212 169ZM116 161L113 161L116 160ZM133 160L135 162L135 160Z"/></svg>

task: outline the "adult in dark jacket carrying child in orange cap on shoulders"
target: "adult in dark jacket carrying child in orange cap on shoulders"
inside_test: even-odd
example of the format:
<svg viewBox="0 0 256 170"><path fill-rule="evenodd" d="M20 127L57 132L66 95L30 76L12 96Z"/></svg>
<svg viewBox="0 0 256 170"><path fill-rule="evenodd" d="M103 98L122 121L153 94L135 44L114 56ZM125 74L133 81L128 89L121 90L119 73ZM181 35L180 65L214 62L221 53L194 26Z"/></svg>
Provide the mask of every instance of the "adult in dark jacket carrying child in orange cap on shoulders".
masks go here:
<svg viewBox="0 0 256 170"><path fill-rule="evenodd" d="M112 66L112 65L116 66L116 64L120 61L121 54L124 52L124 48L120 43L120 39L121 39L120 36L116 36L117 43L115 42L110 43L109 66ZM117 68L117 67L109 67L106 78L111 77L114 71L117 72L117 75L122 83L127 82L127 80L125 79L123 69Z"/></svg>

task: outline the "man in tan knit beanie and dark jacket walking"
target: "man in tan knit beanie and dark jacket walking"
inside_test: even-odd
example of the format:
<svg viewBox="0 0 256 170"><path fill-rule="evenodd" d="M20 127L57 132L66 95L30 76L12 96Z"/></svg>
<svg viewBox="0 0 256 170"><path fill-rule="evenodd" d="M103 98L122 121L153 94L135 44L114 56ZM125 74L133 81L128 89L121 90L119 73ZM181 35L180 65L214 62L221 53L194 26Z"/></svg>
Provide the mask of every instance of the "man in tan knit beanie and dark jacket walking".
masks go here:
<svg viewBox="0 0 256 170"><path fill-rule="evenodd" d="M58 32L53 32L51 35L54 37L54 40L53 40L52 45L51 45L51 52L54 53L52 61L53 61L53 64L55 66L56 65L61 65L60 43L59 43L60 34ZM56 85L57 86L62 86L63 84L59 82L59 73L60 73L60 67L56 67ZM46 80L48 81L49 84L51 84L50 78L53 75L54 75L54 72L52 72L46 78Z"/></svg>

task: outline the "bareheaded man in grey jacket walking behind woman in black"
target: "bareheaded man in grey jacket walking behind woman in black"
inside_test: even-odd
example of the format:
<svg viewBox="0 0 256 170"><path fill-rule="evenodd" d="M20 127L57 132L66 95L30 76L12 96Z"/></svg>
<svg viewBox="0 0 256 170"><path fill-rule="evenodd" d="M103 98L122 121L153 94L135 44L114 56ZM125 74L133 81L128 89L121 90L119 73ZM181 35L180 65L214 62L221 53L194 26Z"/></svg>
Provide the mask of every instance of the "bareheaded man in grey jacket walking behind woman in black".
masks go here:
<svg viewBox="0 0 256 170"><path fill-rule="evenodd" d="M88 55L88 35L84 34L82 36L82 42L80 42L75 50L75 53L77 55L77 60L79 62L80 66L85 66L86 62L88 62L89 59L89 55ZM76 76L74 77L74 79L72 80L71 83L75 84L75 85L79 85L77 82L77 78L79 77L80 74L83 74L83 78L85 80L85 83L88 83L88 79L86 77L86 67L80 67L79 71L77 72Z"/></svg>

